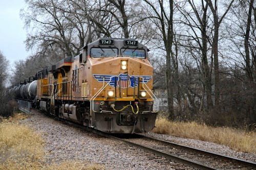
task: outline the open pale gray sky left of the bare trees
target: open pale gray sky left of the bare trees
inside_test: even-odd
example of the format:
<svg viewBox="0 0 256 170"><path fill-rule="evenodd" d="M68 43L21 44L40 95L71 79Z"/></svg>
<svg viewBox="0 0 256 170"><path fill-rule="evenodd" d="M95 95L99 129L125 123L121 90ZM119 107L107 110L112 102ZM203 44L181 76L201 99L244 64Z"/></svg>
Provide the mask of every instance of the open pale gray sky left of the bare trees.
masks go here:
<svg viewBox="0 0 256 170"><path fill-rule="evenodd" d="M11 66L14 61L29 56L24 44L24 23L19 17L19 11L24 6L24 0L0 0L0 51L10 61Z"/></svg>

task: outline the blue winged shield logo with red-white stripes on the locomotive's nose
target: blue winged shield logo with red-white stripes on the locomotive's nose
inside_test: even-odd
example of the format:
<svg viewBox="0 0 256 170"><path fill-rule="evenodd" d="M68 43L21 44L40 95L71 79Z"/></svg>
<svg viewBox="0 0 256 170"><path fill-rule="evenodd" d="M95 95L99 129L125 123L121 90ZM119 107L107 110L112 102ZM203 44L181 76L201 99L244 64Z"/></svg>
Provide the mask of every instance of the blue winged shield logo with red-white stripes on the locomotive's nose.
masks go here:
<svg viewBox="0 0 256 170"><path fill-rule="evenodd" d="M97 75L93 74L94 79L98 82L105 82L109 83L111 87L115 87L115 80L116 86L120 88L127 88L127 87L137 87L139 78L140 83L147 83L151 80L152 76L130 76L127 74L120 74L120 75Z"/></svg>

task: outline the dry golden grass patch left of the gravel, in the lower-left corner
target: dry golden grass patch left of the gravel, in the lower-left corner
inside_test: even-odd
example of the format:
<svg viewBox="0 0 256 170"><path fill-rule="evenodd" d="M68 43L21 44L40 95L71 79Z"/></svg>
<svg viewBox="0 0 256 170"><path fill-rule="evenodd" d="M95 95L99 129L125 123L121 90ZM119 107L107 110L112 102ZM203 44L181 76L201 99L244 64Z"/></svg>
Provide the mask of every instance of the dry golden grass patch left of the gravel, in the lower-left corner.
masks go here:
<svg viewBox="0 0 256 170"><path fill-rule="evenodd" d="M76 160L58 165L46 164L45 142L40 134L18 124L18 120L27 117L19 113L8 119L1 118L3 122L0 123L0 169L104 169L102 165L88 165Z"/></svg>

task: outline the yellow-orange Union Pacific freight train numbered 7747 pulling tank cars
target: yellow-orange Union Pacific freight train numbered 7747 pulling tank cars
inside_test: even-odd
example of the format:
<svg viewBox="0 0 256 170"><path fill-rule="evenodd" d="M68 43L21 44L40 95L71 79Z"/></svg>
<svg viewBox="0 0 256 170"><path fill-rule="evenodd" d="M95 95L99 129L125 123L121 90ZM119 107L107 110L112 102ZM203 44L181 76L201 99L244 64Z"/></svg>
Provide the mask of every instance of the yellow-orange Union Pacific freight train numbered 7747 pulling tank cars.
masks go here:
<svg viewBox="0 0 256 170"><path fill-rule="evenodd" d="M149 132L158 103L148 51L136 39L99 38L12 91L19 102L102 132Z"/></svg>

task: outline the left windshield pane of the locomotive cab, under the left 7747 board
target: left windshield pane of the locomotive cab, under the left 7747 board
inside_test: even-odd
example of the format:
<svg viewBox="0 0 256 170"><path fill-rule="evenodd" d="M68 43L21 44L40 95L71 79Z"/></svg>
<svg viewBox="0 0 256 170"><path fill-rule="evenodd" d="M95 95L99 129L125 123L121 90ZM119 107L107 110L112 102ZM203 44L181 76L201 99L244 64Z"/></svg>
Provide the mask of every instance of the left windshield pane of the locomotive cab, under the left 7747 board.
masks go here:
<svg viewBox="0 0 256 170"><path fill-rule="evenodd" d="M91 57L116 57L117 48L91 48Z"/></svg>

